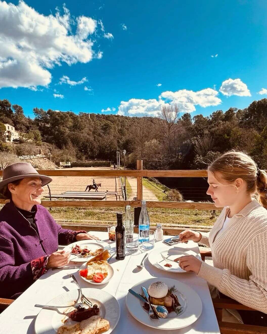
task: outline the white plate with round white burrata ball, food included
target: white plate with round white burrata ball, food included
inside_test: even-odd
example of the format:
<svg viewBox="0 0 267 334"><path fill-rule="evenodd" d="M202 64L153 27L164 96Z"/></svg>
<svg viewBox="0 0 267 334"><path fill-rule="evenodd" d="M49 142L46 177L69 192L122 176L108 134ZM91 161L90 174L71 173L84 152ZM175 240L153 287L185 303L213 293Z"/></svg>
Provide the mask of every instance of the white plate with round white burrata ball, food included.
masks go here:
<svg viewBox="0 0 267 334"><path fill-rule="evenodd" d="M147 289L152 305L161 305L168 310L166 318L149 317L149 306L144 303L147 299L142 286ZM199 295L187 284L169 278L151 278L135 284L126 295L126 306L133 318L142 324L163 330L190 326L202 313Z"/></svg>

